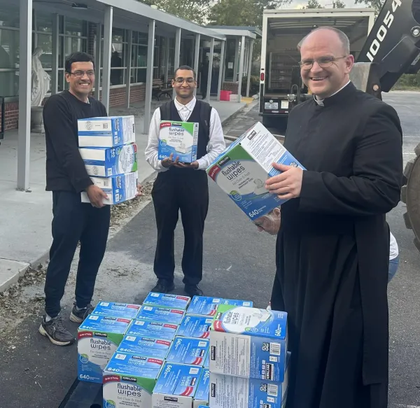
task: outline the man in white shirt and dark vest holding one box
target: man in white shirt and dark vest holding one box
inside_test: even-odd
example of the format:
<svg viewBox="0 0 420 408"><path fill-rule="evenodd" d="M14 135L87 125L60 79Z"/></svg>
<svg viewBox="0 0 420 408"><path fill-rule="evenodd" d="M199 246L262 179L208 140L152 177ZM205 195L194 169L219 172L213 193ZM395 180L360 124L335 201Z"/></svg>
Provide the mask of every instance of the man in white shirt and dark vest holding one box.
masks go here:
<svg viewBox="0 0 420 408"><path fill-rule="evenodd" d="M154 262L158 283L152 291L168 293L175 288L174 230L181 210L185 237L181 263L183 283L189 296L202 296L198 284L202 280L203 232L209 208L209 185L205 170L224 150L225 139L216 109L194 97L197 75L190 66L176 69L172 87L176 98L155 110L145 151L147 162L158 171L152 190L158 227ZM160 120L199 123L195 162L184 164L179 162L179 157L172 155L165 160L158 159Z"/></svg>

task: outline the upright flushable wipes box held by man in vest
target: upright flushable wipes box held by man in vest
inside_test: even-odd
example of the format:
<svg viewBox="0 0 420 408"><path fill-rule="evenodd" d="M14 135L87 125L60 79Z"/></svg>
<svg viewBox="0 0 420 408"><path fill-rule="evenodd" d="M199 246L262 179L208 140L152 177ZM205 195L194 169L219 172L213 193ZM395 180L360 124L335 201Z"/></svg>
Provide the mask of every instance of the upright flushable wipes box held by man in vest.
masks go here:
<svg viewBox="0 0 420 408"><path fill-rule="evenodd" d="M158 158L164 160L173 153L173 160L192 163L197 160L198 123L161 120Z"/></svg>

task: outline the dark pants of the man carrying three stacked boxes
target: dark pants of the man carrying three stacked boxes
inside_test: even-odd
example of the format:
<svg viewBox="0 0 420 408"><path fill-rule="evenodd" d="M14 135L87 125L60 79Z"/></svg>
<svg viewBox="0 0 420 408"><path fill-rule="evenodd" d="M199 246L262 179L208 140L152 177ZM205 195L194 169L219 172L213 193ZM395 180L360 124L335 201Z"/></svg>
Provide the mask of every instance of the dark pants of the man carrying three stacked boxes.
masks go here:
<svg viewBox="0 0 420 408"><path fill-rule="evenodd" d="M94 208L82 203L80 194L52 192L52 246L45 279L45 311L54 318L60 302L77 244L80 255L76 277L76 304L86 307L92 300L97 273L108 239L111 206Z"/></svg>

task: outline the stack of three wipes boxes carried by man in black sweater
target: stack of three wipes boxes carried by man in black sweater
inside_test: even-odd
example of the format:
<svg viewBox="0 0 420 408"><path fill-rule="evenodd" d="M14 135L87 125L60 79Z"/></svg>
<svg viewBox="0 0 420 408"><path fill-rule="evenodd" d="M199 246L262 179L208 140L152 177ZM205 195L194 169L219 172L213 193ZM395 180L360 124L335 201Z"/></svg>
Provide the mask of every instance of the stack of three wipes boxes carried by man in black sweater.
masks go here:
<svg viewBox="0 0 420 408"><path fill-rule="evenodd" d="M134 116L110 116L78 120L80 155L94 185L119 204L137 195L137 144ZM82 202L90 202L82 192Z"/></svg>

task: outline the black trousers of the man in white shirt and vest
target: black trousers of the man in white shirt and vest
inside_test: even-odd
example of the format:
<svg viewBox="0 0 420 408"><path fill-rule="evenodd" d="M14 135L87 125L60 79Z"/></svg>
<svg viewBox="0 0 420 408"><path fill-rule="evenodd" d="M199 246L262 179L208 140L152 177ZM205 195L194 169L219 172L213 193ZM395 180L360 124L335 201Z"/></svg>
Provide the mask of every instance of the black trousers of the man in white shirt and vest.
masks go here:
<svg viewBox="0 0 420 408"><path fill-rule="evenodd" d="M203 273L203 232L209 209L209 184L203 170L171 169L158 174L152 190L158 242L154 271L158 279L174 281L174 231L181 211L185 237L183 283L197 285Z"/></svg>

